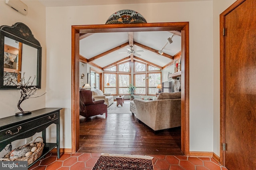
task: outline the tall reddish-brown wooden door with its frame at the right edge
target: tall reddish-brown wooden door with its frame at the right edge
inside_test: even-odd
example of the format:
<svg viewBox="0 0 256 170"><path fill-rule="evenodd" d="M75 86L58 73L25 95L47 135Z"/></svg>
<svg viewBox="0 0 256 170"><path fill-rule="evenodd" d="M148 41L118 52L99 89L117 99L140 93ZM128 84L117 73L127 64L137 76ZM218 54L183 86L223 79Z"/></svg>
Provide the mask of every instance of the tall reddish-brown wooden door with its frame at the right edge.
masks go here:
<svg viewBox="0 0 256 170"><path fill-rule="evenodd" d="M229 170L256 169L255 7L255 0L238 0L220 15L221 163Z"/></svg>

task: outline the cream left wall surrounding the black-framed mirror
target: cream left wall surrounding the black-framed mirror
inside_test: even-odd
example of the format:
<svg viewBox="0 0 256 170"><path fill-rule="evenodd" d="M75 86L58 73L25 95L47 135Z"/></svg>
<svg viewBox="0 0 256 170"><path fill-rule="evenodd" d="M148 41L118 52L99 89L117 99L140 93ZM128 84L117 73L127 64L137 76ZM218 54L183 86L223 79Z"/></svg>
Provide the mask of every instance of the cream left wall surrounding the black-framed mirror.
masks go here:
<svg viewBox="0 0 256 170"><path fill-rule="evenodd" d="M42 88L37 91L37 94L43 94L46 85L46 18L45 7L38 1L23 1L28 6L28 15L24 16L5 4L4 0L0 1L0 25L12 26L16 22L26 24L34 37L42 46ZM33 76L33 75L32 75ZM46 94L47 95L47 94ZM24 111L33 111L45 107L46 95L34 99L27 99L22 102L21 107ZM13 116L20 112L17 108L20 92L18 90L0 90L0 118ZM34 140L35 137L33 137ZM12 142L12 147L16 148L25 144L25 139ZM6 152L3 150L0 157Z"/></svg>

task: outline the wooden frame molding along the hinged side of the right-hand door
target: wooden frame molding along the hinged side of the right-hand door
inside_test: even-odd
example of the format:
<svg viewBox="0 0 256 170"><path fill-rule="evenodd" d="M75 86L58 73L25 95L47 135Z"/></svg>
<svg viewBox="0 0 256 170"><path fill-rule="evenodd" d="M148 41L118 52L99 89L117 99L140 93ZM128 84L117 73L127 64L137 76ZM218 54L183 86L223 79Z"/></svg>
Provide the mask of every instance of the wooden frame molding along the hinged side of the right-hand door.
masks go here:
<svg viewBox="0 0 256 170"><path fill-rule="evenodd" d="M223 143L225 143L225 36L223 29L225 28L225 18L232 10L242 4L245 0L237 0L220 14L220 164L225 166L225 151Z"/></svg>

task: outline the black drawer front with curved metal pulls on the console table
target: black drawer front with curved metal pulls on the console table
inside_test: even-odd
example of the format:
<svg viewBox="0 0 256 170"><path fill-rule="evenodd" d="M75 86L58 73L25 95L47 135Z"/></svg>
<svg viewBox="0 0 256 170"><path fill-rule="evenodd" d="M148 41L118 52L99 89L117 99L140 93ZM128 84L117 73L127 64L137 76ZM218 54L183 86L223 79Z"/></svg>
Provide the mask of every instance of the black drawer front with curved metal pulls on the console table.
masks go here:
<svg viewBox="0 0 256 170"><path fill-rule="evenodd" d="M4 130L1 130L0 141L22 134L32 128L38 127L39 125L51 123L52 121L55 121L56 119L58 119L58 117L59 117L58 112L56 112L56 113L52 113L50 115L47 115L38 119L34 119L32 121L29 121L23 124L15 125L13 127L9 127Z"/></svg>

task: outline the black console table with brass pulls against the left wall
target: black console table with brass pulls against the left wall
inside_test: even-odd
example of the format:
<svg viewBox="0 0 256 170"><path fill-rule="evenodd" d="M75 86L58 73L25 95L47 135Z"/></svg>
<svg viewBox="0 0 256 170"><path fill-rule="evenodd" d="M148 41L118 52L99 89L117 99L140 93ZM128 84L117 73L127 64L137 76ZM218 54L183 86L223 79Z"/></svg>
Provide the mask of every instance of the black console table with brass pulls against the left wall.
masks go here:
<svg viewBox="0 0 256 170"><path fill-rule="evenodd" d="M0 119L0 151L14 140L28 138L36 132L42 132L44 151L40 158L56 146L57 155L60 158L60 109L62 108L44 108L32 111L30 115L10 116ZM56 143L46 143L46 128L53 123L56 124ZM30 166L32 164L28 167Z"/></svg>

